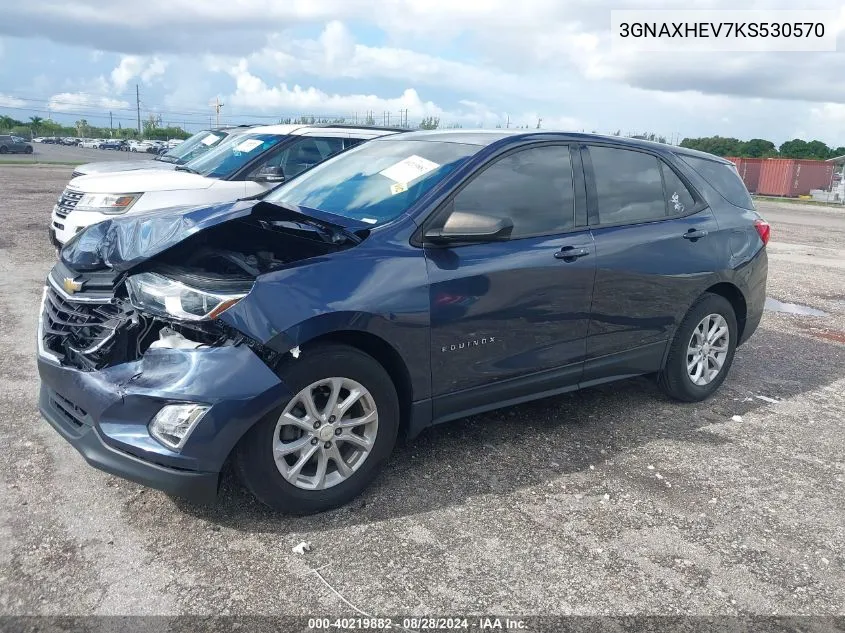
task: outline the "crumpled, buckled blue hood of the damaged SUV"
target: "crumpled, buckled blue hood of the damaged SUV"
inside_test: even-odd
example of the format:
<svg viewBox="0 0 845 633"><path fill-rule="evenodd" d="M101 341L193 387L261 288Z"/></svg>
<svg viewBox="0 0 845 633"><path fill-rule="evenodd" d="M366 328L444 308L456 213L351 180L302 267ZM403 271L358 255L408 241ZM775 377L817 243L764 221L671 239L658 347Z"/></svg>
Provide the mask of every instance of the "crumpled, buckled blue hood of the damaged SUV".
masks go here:
<svg viewBox="0 0 845 633"><path fill-rule="evenodd" d="M287 209L261 200L239 200L213 206L182 206L148 213L116 216L84 229L62 249L66 266L87 270L125 271L164 252L192 235L218 224L237 220L260 210L276 220L310 220L326 228L361 231L365 222L324 213L316 209Z"/></svg>

